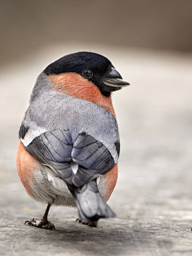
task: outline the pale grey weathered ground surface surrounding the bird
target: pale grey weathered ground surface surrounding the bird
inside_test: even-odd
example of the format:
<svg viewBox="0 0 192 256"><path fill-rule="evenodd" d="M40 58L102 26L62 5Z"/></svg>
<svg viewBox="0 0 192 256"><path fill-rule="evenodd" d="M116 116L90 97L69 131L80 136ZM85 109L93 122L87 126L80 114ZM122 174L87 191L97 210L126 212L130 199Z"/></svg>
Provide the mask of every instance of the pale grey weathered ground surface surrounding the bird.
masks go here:
<svg viewBox="0 0 192 256"><path fill-rule="evenodd" d="M72 51L93 50L114 63L130 87L115 92L121 133L117 218L98 228L75 223L77 210L52 207L56 230L24 226L42 218L15 165L18 128L38 74ZM0 70L0 255L192 254L192 55L97 45L39 50Z"/></svg>

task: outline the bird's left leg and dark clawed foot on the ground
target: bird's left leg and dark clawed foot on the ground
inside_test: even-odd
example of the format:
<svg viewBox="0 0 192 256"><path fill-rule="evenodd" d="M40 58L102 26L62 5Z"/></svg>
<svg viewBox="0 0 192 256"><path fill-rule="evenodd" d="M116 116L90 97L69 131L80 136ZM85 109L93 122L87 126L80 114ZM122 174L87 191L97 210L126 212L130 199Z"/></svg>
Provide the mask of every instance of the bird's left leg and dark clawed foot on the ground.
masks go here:
<svg viewBox="0 0 192 256"><path fill-rule="evenodd" d="M26 221L25 224L28 224L29 226L36 226L36 227L42 227L48 230L55 230L54 224L49 222L47 219L49 210L50 210L51 204L49 203L48 206L46 207L46 212L42 217L41 221L38 221L36 218L33 218L30 221Z"/></svg>

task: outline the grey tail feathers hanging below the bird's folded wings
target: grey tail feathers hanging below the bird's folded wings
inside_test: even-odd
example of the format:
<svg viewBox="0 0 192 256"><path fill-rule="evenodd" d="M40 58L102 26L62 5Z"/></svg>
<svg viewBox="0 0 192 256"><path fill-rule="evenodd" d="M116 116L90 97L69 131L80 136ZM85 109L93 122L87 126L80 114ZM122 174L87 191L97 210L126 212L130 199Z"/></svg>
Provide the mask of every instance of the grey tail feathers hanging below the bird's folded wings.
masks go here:
<svg viewBox="0 0 192 256"><path fill-rule="evenodd" d="M113 210L102 199L98 192L96 180L76 187L68 185L71 194L78 206L79 218L86 222L97 222L99 218L115 217Z"/></svg>

